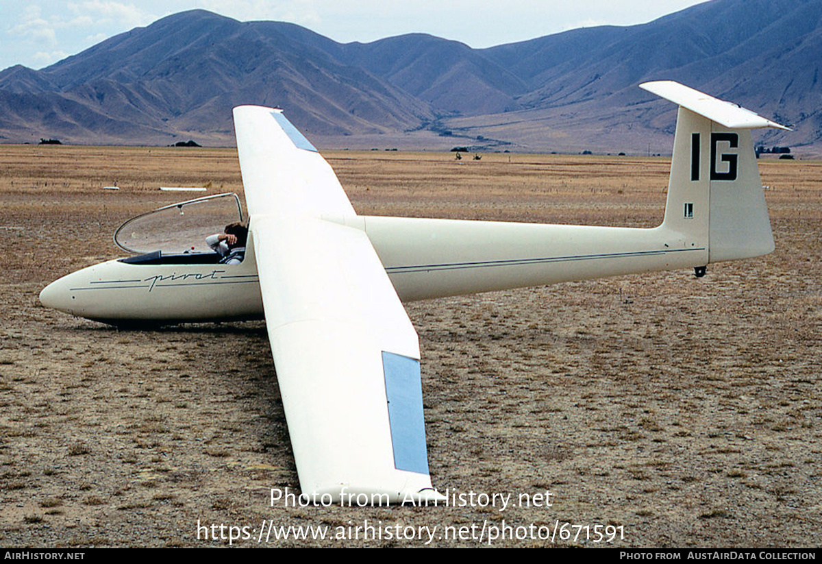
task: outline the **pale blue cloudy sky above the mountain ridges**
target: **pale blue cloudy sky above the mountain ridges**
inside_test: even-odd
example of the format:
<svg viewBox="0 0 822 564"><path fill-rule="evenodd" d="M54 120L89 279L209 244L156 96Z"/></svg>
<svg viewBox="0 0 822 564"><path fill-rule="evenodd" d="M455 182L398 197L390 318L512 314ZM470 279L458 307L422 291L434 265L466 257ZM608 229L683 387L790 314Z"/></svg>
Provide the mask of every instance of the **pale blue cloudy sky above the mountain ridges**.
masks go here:
<svg viewBox="0 0 822 564"><path fill-rule="evenodd" d="M482 48L577 27L644 23L701 1L2 0L0 69L46 67L112 35L194 8L239 21L290 21L341 43L419 31Z"/></svg>

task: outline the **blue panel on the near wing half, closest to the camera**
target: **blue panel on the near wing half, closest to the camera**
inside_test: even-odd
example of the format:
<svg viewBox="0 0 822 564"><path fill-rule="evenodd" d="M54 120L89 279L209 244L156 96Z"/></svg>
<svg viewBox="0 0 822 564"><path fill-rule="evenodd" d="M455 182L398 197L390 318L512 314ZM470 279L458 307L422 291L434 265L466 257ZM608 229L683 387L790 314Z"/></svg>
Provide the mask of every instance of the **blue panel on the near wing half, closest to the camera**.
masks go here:
<svg viewBox="0 0 822 564"><path fill-rule="evenodd" d="M394 353L382 353L386 376L388 418L394 465L398 470L428 474L428 455L423 421L423 383L419 361Z"/></svg>

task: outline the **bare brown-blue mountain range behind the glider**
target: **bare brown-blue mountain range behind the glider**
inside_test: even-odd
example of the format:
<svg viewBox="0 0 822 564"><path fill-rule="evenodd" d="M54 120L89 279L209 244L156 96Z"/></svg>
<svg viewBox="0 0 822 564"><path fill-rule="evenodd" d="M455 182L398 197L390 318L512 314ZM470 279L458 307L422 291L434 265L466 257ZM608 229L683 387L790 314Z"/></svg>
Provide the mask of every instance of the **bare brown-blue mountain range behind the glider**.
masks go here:
<svg viewBox="0 0 822 564"><path fill-rule="evenodd" d="M820 155L820 63L819 0L713 0L488 49L193 10L0 72L0 141L230 146L232 107L262 104L321 147L669 152L676 109L636 86L672 79L794 128L760 143Z"/></svg>

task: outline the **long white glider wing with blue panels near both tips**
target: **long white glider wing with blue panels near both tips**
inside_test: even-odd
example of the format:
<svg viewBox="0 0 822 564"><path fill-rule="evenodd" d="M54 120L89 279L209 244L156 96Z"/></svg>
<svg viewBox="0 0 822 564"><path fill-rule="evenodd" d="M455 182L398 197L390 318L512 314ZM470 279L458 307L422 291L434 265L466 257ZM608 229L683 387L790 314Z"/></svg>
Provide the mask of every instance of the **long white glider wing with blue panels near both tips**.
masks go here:
<svg viewBox="0 0 822 564"><path fill-rule="evenodd" d="M435 496L417 333L339 181L280 110L235 108L234 127L303 495Z"/></svg>

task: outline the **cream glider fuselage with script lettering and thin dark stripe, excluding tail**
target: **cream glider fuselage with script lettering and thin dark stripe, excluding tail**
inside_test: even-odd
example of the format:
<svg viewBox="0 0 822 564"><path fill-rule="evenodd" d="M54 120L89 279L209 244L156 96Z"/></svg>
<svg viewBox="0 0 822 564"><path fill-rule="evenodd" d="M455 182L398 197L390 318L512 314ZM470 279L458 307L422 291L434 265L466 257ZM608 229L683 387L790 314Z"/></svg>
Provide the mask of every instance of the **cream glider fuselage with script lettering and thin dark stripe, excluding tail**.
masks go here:
<svg viewBox="0 0 822 564"><path fill-rule="evenodd" d="M706 241L662 226L379 216L336 222L367 233L404 302L708 262ZM251 233L247 255L238 265L219 264L216 255L107 261L49 284L40 299L47 307L114 325L262 318L253 218Z"/></svg>

